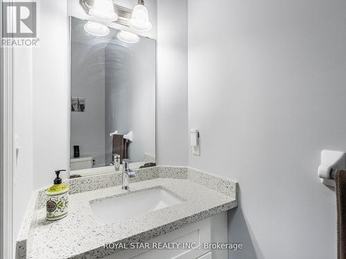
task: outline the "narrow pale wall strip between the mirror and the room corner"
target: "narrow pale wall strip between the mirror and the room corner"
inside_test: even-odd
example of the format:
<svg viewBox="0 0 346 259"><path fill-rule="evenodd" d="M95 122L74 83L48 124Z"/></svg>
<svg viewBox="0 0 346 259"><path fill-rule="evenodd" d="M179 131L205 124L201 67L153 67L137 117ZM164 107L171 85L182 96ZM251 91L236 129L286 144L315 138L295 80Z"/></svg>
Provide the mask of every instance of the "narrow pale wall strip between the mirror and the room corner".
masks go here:
<svg viewBox="0 0 346 259"><path fill-rule="evenodd" d="M186 0L158 1L158 164L188 164L188 14Z"/></svg>

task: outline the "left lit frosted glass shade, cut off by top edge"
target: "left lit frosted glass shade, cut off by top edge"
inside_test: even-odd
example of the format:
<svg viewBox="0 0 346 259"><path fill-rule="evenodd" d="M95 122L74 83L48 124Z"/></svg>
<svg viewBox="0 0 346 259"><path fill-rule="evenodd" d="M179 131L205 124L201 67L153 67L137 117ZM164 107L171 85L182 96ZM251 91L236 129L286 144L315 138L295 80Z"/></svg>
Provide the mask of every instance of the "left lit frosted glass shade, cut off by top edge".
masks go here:
<svg viewBox="0 0 346 259"><path fill-rule="evenodd" d="M89 14L102 21L118 20L118 15L114 12L112 0L95 0Z"/></svg>

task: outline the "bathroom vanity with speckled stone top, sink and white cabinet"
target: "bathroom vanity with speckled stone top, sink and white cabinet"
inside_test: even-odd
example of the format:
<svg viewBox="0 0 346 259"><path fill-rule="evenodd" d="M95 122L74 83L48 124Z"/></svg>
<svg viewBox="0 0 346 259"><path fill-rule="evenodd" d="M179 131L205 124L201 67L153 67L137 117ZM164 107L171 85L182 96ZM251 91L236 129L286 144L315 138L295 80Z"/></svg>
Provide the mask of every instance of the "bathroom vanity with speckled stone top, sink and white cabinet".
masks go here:
<svg viewBox="0 0 346 259"><path fill-rule="evenodd" d="M227 250L203 244L227 242L237 182L184 167L156 166L136 175L129 191L121 189L121 173L66 180L69 215L55 222L46 221L44 190L37 191L17 258L225 258ZM157 249L163 243L180 247Z"/></svg>

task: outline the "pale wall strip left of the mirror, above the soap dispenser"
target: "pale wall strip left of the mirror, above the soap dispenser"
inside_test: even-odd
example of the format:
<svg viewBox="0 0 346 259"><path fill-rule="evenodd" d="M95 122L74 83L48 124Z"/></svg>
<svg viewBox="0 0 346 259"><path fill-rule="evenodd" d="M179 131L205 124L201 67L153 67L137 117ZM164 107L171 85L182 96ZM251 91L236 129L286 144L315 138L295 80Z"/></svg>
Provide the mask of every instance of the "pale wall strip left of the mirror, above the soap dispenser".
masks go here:
<svg viewBox="0 0 346 259"><path fill-rule="evenodd" d="M53 184L68 159L68 17L65 1L37 1L39 47L33 50L34 188ZM62 175L64 176L64 175Z"/></svg>

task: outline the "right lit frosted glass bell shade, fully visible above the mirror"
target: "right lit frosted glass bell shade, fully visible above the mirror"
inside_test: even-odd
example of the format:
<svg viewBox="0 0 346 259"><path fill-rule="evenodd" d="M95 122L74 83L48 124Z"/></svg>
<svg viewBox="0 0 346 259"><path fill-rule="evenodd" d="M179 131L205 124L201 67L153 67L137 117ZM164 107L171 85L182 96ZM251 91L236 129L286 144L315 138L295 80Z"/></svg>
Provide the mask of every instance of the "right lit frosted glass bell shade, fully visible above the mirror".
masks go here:
<svg viewBox="0 0 346 259"><path fill-rule="evenodd" d="M149 21L149 13L145 6L138 4L134 7L132 16L129 19L129 26L139 32L147 32L152 29L152 23Z"/></svg>

